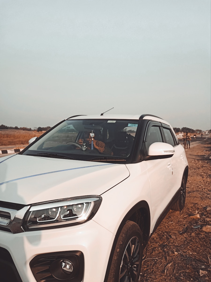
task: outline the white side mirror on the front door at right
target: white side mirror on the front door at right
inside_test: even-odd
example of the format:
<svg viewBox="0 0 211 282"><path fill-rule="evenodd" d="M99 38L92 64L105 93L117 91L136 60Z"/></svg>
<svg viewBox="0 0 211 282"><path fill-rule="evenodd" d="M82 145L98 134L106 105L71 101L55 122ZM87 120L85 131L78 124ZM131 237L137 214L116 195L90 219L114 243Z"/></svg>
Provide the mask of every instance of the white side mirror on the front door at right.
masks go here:
<svg viewBox="0 0 211 282"><path fill-rule="evenodd" d="M148 156L144 160L170 158L174 155L174 147L168 143L155 142L149 146Z"/></svg>

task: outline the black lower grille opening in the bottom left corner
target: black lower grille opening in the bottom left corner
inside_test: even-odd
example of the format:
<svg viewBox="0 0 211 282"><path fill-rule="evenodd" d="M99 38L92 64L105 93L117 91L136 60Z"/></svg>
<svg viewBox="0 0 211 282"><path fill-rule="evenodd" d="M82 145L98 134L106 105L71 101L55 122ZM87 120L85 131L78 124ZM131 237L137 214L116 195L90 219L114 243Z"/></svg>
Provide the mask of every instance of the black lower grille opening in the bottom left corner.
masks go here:
<svg viewBox="0 0 211 282"><path fill-rule="evenodd" d="M0 247L1 282L23 282L8 250Z"/></svg>

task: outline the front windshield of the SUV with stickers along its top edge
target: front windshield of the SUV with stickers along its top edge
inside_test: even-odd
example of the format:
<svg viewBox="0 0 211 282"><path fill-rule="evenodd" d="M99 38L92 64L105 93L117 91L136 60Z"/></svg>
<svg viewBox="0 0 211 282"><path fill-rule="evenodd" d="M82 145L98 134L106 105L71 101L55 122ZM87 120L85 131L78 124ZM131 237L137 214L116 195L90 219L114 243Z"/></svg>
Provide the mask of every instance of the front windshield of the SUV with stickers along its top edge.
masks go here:
<svg viewBox="0 0 211 282"><path fill-rule="evenodd" d="M137 127L137 120L66 120L24 150L23 155L124 161L131 155Z"/></svg>

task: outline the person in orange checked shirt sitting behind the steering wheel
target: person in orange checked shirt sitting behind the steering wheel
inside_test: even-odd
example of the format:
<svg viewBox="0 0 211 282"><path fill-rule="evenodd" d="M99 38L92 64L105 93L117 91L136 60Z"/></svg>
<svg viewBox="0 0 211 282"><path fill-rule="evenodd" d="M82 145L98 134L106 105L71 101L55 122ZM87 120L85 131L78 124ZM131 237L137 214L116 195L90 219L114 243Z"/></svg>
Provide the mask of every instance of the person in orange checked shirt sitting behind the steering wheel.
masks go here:
<svg viewBox="0 0 211 282"><path fill-rule="evenodd" d="M91 150L92 141L93 141L93 149L95 148L100 154L113 156L113 152L106 144L102 141L95 140L95 137L91 137L91 132L84 132L84 139L79 139L78 143L82 145L84 142L86 143L87 149Z"/></svg>

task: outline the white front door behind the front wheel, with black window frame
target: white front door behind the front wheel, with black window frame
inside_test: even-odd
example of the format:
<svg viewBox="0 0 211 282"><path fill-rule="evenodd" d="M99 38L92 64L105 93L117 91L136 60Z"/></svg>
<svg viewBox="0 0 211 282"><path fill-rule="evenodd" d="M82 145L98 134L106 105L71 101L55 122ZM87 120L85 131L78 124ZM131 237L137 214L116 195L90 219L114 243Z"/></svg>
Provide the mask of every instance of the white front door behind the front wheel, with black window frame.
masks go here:
<svg viewBox="0 0 211 282"><path fill-rule="evenodd" d="M161 124L150 122L144 138L145 153L148 155L149 146L154 142L163 142ZM143 161L147 169L151 187L151 228L154 228L158 217L171 200L172 186L171 158Z"/></svg>

